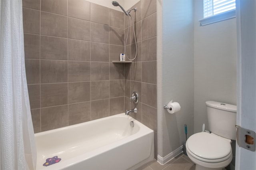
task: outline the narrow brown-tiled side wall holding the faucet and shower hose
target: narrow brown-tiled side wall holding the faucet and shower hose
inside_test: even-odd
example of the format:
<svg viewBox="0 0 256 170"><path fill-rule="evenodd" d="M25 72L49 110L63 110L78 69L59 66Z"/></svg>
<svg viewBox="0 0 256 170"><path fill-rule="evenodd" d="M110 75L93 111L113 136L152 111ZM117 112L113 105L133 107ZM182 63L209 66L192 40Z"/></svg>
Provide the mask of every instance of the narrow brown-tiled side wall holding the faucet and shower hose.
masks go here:
<svg viewBox="0 0 256 170"><path fill-rule="evenodd" d="M131 116L154 130L155 158L157 156L157 93L156 93L156 0L140 0L132 8L138 54L131 64L125 65L125 109L138 109L138 113ZM134 58L136 45L133 26L128 28L128 18L125 17L125 41L130 29L126 48L130 59ZM130 103L133 91L139 93L139 103Z"/></svg>

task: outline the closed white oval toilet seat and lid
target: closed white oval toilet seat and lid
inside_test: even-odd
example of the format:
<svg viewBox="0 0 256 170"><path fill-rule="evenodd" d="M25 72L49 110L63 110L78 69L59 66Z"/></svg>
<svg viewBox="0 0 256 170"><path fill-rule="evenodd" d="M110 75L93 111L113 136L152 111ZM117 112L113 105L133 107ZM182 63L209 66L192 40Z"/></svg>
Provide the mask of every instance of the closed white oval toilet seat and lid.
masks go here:
<svg viewBox="0 0 256 170"><path fill-rule="evenodd" d="M228 140L207 132L193 134L186 142L187 152L204 162L222 162L232 156Z"/></svg>

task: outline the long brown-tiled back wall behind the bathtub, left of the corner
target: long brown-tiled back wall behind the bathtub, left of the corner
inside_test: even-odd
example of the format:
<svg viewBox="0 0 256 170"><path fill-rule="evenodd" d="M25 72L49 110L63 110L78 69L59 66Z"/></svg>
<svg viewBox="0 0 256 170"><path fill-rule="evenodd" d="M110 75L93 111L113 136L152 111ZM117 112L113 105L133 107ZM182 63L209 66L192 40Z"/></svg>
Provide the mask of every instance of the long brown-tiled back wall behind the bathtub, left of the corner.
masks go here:
<svg viewBox="0 0 256 170"><path fill-rule="evenodd" d="M23 0L34 132L124 112L124 13L85 0Z"/></svg>

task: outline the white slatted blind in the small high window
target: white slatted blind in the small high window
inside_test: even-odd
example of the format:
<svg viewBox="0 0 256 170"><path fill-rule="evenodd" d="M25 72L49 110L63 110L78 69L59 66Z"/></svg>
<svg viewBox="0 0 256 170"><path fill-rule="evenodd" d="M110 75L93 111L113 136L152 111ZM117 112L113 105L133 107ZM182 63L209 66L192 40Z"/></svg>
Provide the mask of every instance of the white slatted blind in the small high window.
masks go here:
<svg viewBox="0 0 256 170"><path fill-rule="evenodd" d="M236 0L204 0L204 18L236 9Z"/></svg>

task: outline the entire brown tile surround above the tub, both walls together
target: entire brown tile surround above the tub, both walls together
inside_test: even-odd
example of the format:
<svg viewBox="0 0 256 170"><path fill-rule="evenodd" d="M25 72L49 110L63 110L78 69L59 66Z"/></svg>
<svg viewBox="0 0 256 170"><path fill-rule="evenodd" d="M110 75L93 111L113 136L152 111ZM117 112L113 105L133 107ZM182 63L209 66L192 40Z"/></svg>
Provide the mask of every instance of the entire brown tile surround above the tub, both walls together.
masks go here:
<svg viewBox="0 0 256 170"><path fill-rule="evenodd" d="M134 7L138 56L132 25L123 12L85 0L23 0L25 63L35 132L123 113L153 129L156 120L156 0ZM118 8L118 7L117 7ZM125 34L124 34L125 33ZM125 35L125 36L124 36ZM139 103L130 103L131 93ZM157 152L155 151L155 154Z"/></svg>

